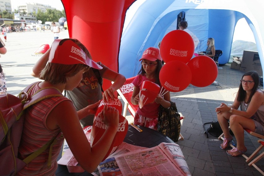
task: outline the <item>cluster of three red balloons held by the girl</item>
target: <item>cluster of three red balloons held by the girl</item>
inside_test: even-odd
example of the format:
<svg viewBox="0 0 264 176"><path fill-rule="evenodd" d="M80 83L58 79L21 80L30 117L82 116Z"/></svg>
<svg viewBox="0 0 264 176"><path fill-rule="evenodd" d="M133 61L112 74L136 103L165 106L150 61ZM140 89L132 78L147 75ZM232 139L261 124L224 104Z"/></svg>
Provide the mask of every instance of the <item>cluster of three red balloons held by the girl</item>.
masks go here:
<svg viewBox="0 0 264 176"><path fill-rule="evenodd" d="M216 63L208 56L192 58L194 49L192 37L183 30L174 30L164 36L160 52L166 64L159 76L166 90L180 92L190 83L206 87L215 81L218 74Z"/></svg>

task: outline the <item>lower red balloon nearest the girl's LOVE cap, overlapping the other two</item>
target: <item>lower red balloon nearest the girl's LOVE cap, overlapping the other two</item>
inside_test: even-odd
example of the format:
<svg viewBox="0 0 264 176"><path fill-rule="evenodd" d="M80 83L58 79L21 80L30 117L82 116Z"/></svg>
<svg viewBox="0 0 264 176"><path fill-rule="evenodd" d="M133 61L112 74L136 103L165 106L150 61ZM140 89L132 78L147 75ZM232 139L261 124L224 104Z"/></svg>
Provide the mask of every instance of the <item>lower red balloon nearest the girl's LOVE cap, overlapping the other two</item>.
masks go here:
<svg viewBox="0 0 264 176"><path fill-rule="evenodd" d="M191 70L181 61L170 61L160 71L161 85L170 92L180 92L191 82Z"/></svg>

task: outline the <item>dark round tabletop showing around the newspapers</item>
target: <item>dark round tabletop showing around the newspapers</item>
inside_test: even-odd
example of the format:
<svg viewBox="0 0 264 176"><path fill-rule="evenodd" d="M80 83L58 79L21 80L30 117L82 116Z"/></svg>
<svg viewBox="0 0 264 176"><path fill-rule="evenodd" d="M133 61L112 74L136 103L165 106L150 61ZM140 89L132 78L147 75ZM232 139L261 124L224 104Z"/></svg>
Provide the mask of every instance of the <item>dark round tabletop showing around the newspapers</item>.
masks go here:
<svg viewBox="0 0 264 176"><path fill-rule="evenodd" d="M156 130L152 130L150 128L146 127L140 127L142 129L142 132L137 131L134 127L128 126L128 131L125 136L124 142L128 144L133 144L141 147L155 147L159 145L162 142L166 143L174 143L173 140L168 138L167 136L157 132ZM61 152L59 154L59 157L57 160L61 158ZM58 165L58 168L56 170L56 176L86 176L86 175L92 175L90 173L84 172L84 173L69 173L66 165Z"/></svg>

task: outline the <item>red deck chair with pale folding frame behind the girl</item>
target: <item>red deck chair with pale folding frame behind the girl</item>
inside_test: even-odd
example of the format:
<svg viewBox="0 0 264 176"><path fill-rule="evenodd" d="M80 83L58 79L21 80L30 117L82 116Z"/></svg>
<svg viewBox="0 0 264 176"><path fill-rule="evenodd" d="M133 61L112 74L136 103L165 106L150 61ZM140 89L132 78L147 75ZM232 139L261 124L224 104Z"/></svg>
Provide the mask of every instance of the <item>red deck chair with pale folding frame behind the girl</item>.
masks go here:
<svg viewBox="0 0 264 176"><path fill-rule="evenodd" d="M133 117L135 117L135 113L137 112L137 109L138 109L138 105L133 105L130 101L132 97L132 93L133 93L133 88L134 88L134 85L132 84L134 79L135 79L135 76L126 79L124 85L120 89L117 90L117 93L119 94L119 96L122 98L122 100L125 103L124 110L123 110L124 117L126 117L127 110L130 112L130 114ZM179 114L181 115L180 117L181 126L183 126L183 119L185 117L181 113ZM180 133L178 140L183 140L183 139L184 139L183 135Z"/></svg>

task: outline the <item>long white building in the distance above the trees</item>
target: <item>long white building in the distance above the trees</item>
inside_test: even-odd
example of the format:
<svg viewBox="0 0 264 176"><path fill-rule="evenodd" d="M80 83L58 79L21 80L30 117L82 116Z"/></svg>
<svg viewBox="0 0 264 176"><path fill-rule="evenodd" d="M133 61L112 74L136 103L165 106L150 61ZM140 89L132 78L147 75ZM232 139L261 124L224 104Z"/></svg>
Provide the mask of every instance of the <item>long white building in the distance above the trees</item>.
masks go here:
<svg viewBox="0 0 264 176"><path fill-rule="evenodd" d="M50 5L39 4L39 3L33 3L33 4L22 3L22 4L19 4L19 6L17 8L18 8L18 12L20 14L21 13L27 13L27 14L31 14L31 15L33 14L33 12L35 12L37 14L38 11L45 12L48 9L56 10L56 8L53 8Z"/></svg>

